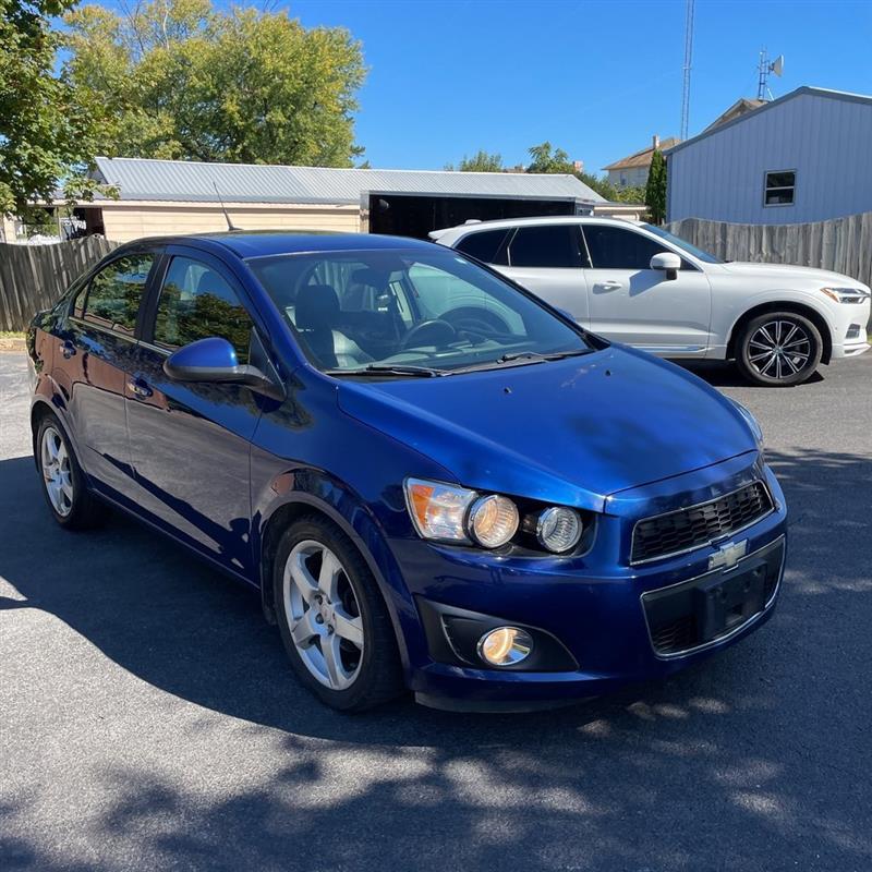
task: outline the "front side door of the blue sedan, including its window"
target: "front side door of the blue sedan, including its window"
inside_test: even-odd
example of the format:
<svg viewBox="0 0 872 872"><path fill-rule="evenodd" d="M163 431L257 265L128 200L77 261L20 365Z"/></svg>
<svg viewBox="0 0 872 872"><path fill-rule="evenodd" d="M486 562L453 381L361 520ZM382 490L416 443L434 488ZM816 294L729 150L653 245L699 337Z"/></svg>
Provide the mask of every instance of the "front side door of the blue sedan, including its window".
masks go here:
<svg viewBox="0 0 872 872"><path fill-rule="evenodd" d="M171 246L130 378L131 459L140 505L155 523L250 576L249 456L262 400L240 385L174 382L164 372L172 351L209 336L229 340L241 364L259 342L223 264Z"/></svg>

